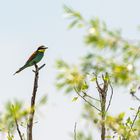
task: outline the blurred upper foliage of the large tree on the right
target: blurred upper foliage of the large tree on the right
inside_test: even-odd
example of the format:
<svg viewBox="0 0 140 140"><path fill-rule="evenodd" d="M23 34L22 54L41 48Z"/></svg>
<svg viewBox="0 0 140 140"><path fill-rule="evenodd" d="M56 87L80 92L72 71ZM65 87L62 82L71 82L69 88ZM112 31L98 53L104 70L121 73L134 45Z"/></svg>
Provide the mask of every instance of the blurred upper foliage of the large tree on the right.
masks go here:
<svg viewBox="0 0 140 140"><path fill-rule="evenodd" d="M71 20L70 28L79 27L81 24L83 26L80 27L85 28L84 42L89 51L80 59L80 66L70 66L63 60L57 61L57 68L60 70L57 78L63 79L62 82L58 82L59 88L65 86L70 91L70 86L77 80L74 74L84 78L87 73L92 72L96 74L108 72L115 85L120 86L139 80L137 72L137 62L140 58L139 42L132 43L123 39L119 30L108 29L98 18L85 20L79 12L67 6L64 6L64 11ZM67 77L73 77L72 81L65 79L66 74Z"/></svg>

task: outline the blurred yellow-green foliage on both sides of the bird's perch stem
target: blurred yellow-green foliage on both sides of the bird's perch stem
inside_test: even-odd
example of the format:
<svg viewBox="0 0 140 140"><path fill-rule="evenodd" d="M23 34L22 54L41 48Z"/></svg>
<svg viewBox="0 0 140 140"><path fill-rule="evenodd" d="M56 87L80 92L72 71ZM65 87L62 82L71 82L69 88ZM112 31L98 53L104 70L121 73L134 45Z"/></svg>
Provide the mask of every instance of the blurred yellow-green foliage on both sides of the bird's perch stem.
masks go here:
<svg viewBox="0 0 140 140"><path fill-rule="evenodd" d="M46 104L46 102L47 97L44 95L37 102L36 110ZM22 128L21 130L24 130L27 126L27 118L30 110L30 107L25 108L25 104L22 101L8 101L5 104L4 111L0 115L0 133L6 134L8 140L14 140L14 134L17 129L15 119L19 127ZM22 131L22 135L24 137L24 131Z"/></svg>

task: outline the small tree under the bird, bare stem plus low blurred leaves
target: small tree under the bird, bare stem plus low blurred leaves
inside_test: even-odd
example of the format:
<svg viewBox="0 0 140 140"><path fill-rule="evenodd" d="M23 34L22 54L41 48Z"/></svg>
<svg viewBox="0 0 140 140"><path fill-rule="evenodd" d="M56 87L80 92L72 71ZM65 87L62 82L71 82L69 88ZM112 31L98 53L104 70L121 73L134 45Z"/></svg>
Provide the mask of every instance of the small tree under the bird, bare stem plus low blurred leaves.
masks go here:
<svg viewBox="0 0 140 140"><path fill-rule="evenodd" d="M35 73L35 78L30 107L24 108L23 102L17 100L14 102L7 102L5 113L2 113L0 117L0 130L2 133L7 134L8 140L14 140L15 131L17 131L20 140L33 140L34 114L37 109L36 94L39 71L45 66L45 64L40 67L36 64L34 66L35 70L33 70L33 72ZM38 102L38 106L45 103L46 96L43 96ZM21 129L21 126L25 128L27 135L23 128Z"/></svg>

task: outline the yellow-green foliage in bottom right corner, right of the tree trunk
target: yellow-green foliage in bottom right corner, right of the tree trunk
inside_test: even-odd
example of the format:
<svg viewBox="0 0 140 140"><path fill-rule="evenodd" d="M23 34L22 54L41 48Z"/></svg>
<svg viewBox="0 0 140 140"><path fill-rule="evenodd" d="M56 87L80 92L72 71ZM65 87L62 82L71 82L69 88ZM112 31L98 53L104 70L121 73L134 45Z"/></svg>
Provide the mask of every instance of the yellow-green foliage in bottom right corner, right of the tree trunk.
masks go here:
<svg viewBox="0 0 140 140"><path fill-rule="evenodd" d="M121 113L116 117L108 116L106 119L106 124L108 126L108 131L112 130L113 137L118 137L120 139L131 139L136 140L139 135L139 126L132 128L133 119L128 117L125 119L125 113ZM136 123L137 124L137 123ZM117 134L117 135L116 135Z"/></svg>

